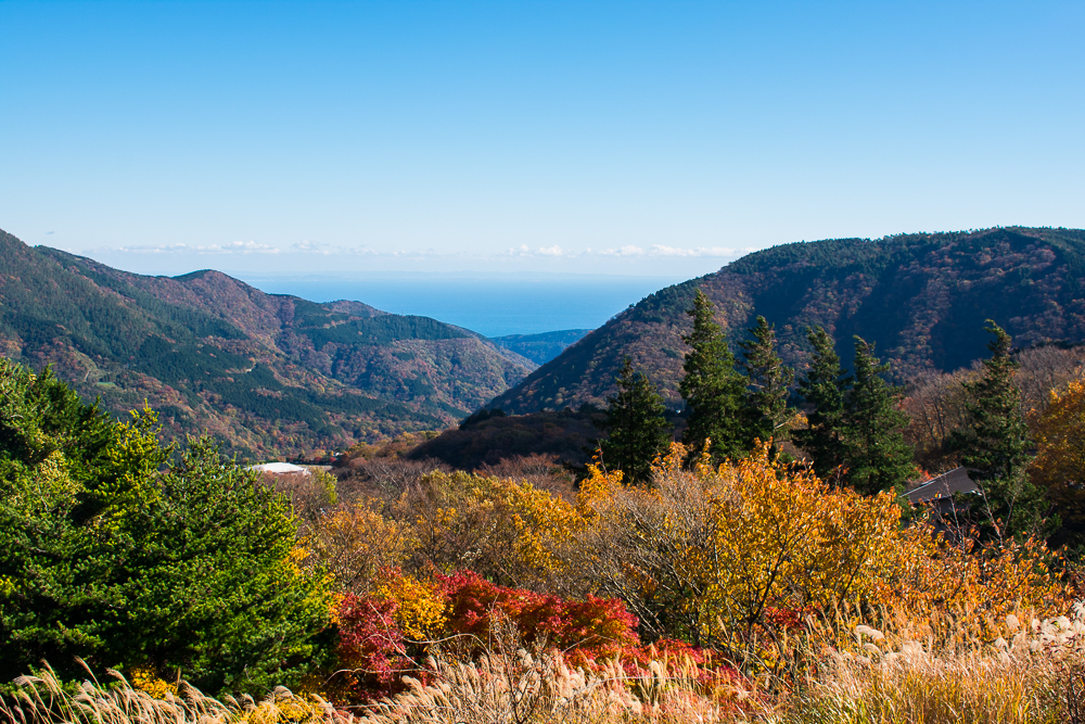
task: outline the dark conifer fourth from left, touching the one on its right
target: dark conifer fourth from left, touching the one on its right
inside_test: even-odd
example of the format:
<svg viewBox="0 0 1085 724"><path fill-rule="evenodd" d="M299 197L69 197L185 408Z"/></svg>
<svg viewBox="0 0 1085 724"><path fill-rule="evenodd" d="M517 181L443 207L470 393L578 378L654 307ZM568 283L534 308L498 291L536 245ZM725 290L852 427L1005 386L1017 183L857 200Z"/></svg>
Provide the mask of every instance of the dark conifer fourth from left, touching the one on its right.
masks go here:
<svg viewBox="0 0 1085 724"><path fill-rule="evenodd" d="M844 462L844 371L832 338L821 327L806 330L806 339L814 357L799 381L799 394L813 409L806 415L807 428L795 430L791 439L810 457L814 472L830 480Z"/></svg>

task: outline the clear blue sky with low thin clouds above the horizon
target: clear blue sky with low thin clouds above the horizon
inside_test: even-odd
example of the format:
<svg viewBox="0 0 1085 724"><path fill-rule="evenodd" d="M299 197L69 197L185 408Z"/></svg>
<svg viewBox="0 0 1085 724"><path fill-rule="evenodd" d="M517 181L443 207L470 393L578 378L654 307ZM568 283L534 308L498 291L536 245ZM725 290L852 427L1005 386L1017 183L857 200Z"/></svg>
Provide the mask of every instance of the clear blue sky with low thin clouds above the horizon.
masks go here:
<svg viewBox="0 0 1085 724"><path fill-rule="evenodd" d="M0 228L149 274L668 277L1085 226L1082 2L0 2Z"/></svg>

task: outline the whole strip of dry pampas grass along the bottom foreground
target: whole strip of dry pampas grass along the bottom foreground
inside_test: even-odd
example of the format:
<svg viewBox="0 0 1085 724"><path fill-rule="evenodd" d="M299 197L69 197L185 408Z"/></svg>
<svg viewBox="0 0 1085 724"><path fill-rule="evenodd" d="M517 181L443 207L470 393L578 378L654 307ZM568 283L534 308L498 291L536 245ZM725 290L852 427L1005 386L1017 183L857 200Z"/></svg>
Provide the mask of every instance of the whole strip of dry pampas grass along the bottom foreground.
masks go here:
<svg viewBox="0 0 1085 724"><path fill-rule="evenodd" d="M693 662L571 668L559 651L526 648L498 626L475 658L436 647L403 694L352 711L278 688L263 701L215 699L179 682L154 696L115 679L65 686L48 668L16 679L0 706L11 724L1085 724L1085 607L998 622L993 639L939 640L906 622L852 622L846 642L816 637L821 656L769 698L742 679L706 681ZM813 633L813 632L812 632ZM89 674L89 672L88 672Z"/></svg>

